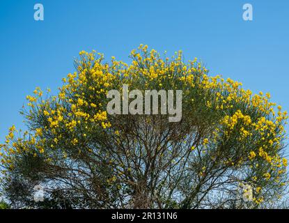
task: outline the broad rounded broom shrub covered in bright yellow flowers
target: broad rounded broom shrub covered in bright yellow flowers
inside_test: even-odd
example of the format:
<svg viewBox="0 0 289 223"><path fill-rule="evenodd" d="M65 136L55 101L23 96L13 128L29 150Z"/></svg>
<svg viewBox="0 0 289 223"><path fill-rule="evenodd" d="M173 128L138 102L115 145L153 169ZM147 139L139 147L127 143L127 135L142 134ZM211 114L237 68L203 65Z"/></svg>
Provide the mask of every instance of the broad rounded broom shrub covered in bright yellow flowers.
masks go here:
<svg viewBox="0 0 289 223"><path fill-rule="evenodd" d="M71 208L278 203L288 183L287 113L269 93L252 95L240 82L209 77L197 59L184 63L182 52L162 59L147 48L133 50L130 65L80 52L77 71L63 79L57 96L44 98L39 88L27 96L28 131L13 125L2 145L3 194L19 176L45 185L50 198L65 194ZM181 121L160 113L108 114L107 93L121 92L123 84L142 93L182 90Z"/></svg>

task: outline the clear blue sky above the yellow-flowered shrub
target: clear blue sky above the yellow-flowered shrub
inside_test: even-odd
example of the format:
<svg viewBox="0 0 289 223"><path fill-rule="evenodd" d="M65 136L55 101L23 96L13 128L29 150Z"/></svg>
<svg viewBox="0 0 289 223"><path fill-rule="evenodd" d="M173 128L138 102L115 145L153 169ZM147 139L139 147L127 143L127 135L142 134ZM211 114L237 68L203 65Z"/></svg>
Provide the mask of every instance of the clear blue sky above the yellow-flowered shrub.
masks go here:
<svg viewBox="0 0 289 223"><path fill-rule="evenodd" d="M42 3L45 21L33 20ZM253 22L242 20L244 3ZM0 1L0 141L22 128L19 109L36 86L56 92L82 49L128 61L140 43L201 59L211 75L272 93L289 110L289 1Z"/></svg>

